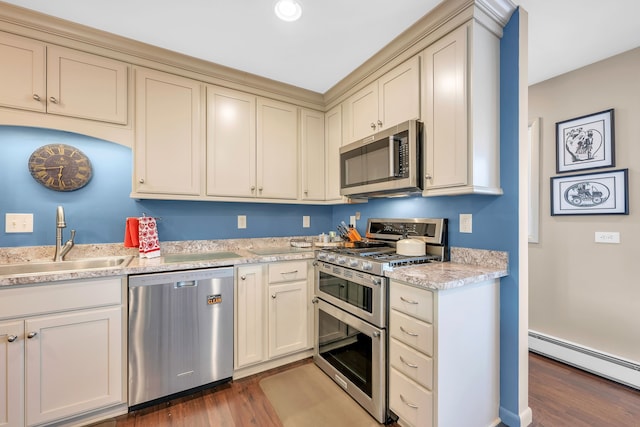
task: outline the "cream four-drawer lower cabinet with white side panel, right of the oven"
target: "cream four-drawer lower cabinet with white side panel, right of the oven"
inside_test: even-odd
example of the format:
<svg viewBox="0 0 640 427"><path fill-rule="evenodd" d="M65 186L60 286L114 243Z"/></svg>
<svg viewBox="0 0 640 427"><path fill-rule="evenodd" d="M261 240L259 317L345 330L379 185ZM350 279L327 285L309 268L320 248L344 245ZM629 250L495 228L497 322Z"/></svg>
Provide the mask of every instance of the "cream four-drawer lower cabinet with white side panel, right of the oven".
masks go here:
<svg viewBox="0 0 640 427"><path fill-rule="evenodd" d="M498 284L431 291L391 281L389 408L400 425L499 424Z"/></svg>

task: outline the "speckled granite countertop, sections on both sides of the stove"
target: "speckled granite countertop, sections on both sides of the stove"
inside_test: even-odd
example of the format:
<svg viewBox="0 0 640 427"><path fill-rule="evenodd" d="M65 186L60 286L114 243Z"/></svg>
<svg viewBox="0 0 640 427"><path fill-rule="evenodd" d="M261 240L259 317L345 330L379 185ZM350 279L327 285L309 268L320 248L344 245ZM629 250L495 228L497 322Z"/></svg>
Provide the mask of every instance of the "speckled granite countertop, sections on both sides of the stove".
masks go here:
<svg viewBox="0 0 640 427"><path fill-rule="evenodd" d="M161 244L158 258L139 258L137 249L123 248L122 244L78 245L68 258L80 259L108 256L132 256L131 262L121 268L100 268L79 271L58 271L38 274L0 276L0 288L11 285L29 285L52 281L90 279L96 277L127 276L133 274L161 273L240 264L280 262L313 259L311 248L293 248L287 238L234 239L218 241L182 241ZM50 260L52 247L0 248L0 263L37 262ZM75 251L75 253L74 253ZM49 253L51 252L51 253ZM231 252L223 258L216 253ZM169 260L175 254L212 254L209 259ZM180 258L180 257L178 257ZM189 256L185 257L189 258ZM500 278L508 275L508 254L481 249L451 248L451 261L400 267L385 272L385 276L416 287L444 290Z"/></svg>

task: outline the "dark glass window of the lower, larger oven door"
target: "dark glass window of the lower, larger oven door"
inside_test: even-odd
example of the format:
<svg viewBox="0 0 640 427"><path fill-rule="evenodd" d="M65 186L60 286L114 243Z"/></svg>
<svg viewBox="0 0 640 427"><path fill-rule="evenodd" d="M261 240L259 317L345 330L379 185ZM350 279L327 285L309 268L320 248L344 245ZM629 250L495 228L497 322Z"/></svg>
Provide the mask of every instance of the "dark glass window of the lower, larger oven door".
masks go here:
<svg viewBox="0 0 640 427"><path fill-rule="evenodd" d="M319 310L319 355L369 397L373 389L372 349L371 337Z"/></svg>

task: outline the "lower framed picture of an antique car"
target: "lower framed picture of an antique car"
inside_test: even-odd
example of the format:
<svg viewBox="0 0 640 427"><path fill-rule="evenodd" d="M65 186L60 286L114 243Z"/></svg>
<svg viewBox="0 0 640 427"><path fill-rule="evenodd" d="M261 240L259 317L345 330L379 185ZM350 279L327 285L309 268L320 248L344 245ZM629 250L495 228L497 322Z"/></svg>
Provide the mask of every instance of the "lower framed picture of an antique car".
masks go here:
<svg viewBox="0 0 640 427"><path fill-rule="evenodd" d="M551 215L628 215L628 169L551 178Z"/></svg>

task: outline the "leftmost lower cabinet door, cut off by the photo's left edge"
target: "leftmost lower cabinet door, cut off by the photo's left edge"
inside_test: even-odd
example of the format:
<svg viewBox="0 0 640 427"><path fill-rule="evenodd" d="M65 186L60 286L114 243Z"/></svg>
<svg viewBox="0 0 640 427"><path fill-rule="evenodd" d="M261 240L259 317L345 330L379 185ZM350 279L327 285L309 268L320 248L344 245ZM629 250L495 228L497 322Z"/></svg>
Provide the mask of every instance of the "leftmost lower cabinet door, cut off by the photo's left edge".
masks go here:
<svg viewBox="0 0 640 427"><path fill-rule="evenodd" d="M0 426L24 426L24 324L0 323Z"/></svg>

